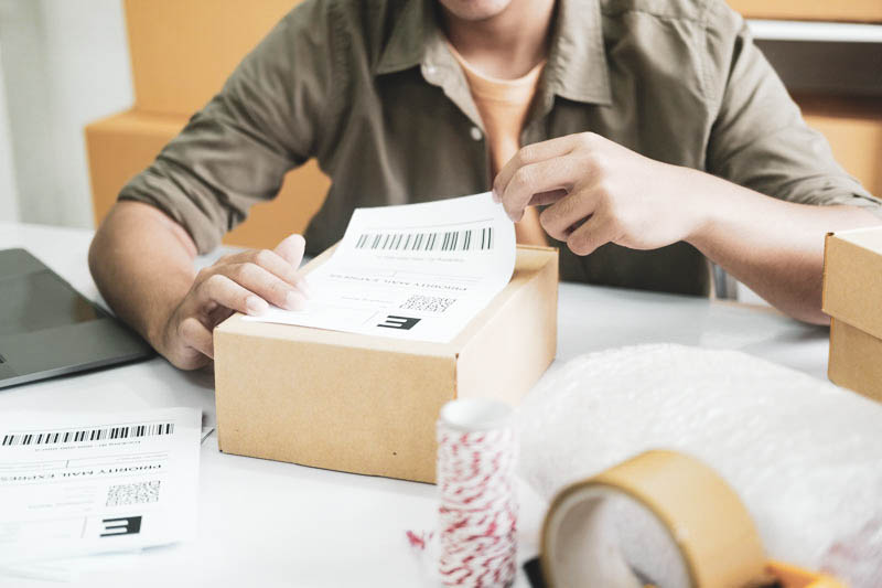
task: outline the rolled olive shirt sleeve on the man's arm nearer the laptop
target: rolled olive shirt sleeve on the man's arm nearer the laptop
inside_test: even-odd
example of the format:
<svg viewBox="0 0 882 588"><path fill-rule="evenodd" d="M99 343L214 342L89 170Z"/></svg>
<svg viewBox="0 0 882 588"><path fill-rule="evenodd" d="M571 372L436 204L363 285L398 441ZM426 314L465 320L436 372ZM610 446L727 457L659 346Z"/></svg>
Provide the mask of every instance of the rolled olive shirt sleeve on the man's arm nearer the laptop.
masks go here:
<svg viewBox="0 0 882 588"><path fill-rule="evenodd" d="M162 210L207 253L315 151L330 77L321 1L298 6L119 200Z"/></svg>

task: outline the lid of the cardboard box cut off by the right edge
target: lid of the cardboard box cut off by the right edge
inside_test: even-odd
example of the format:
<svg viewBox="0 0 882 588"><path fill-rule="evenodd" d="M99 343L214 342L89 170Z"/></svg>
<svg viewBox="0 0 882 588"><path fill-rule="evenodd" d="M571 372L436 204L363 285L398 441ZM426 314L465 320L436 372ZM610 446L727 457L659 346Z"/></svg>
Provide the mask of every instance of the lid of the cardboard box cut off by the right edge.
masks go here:
<svg viewBox="0 0 882 588"><path fill-rule="evenodd" d="M824 312L882 339L882 227L827 235Z"/></svg>

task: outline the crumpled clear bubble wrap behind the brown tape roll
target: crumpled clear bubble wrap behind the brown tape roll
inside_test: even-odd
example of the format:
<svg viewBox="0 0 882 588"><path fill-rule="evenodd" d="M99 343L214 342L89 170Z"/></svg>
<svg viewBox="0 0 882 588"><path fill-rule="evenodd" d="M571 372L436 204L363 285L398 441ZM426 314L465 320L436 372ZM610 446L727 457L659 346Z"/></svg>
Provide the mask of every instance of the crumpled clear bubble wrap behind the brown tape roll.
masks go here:
<svg viewBox="0 0 882 588"><path fill-rule="evenodd" d="M653 448L739 493L770 557L882 587L882 405L735 351L653 344L577 357L517 411L520 472L551 499Z"/></svg>

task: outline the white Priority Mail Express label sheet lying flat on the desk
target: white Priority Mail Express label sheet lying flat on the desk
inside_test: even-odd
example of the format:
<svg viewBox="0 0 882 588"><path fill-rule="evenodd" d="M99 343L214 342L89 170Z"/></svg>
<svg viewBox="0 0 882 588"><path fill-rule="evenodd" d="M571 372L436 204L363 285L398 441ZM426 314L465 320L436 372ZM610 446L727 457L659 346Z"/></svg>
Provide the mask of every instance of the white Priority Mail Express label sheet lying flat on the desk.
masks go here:
<svg viewBox="0 0 882 588"><path fill-rule="evenodd" d="M193 538L201 411L0 416L0 568Z"/></svg>

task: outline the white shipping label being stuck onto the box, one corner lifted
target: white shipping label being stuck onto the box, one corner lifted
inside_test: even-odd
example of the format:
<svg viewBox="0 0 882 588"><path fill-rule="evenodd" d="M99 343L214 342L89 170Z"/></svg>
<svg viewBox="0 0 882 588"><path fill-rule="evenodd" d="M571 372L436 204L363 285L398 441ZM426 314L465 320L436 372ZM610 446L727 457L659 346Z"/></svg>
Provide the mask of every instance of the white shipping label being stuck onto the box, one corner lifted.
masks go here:
<svg viewBox="0 0 882 588"><path fill-rule="evenodd" d="M514 224L490 192L358 209L309 274L304 310L246 320L447 343L505 288L515 254Z"/></svg>

